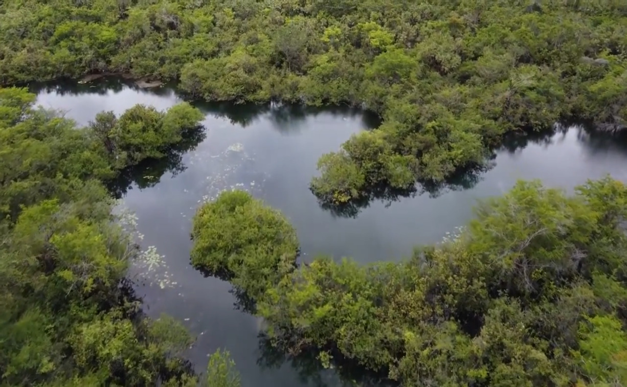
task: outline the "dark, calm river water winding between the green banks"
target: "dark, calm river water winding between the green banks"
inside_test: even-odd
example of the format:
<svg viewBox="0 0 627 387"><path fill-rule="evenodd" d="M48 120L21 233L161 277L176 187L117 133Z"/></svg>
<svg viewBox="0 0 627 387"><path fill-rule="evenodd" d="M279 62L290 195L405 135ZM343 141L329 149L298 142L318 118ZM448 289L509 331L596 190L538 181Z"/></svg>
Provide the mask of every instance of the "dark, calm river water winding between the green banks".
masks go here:
<svg viewBox="0 0 627 387"><path fill-rule="evenodd" d="M166 109L179 100L169 88L145 92L118 82L65 85L43 89L38 96L38 103L64 110L79 124L87 124L101 110L121 114L135 103ZM245 387L339 382L332 371L312 372L306 361L295 366L261 351L260 322L234 308L230 285L203 278L189 266L191 218L199 203L222 189L248 189L281 209L297 228L305 260L327 253L366 263L398 260L416 244L440 241L472 216L477 199L501 194L517 179L542 179L567 190L608 173L627 181L627 140L574 126L511 140L495 151L492 168L483 173L459 176L430 192L418 188L413 197L398 201L375 200L354 209L352 217L339 216L320 208L308 190L317 159L337 150L351 134L376 125L376 119L349 109L199 108L206 113L207 130L198 146L174 161L142 169L130 176L140 176L139 186L129 181L119 191L124 205L137 214L143 247L154 246L164 257L165 265L152 273L154 278L142 277L153 283L140 289L149 314L167 312L199 335L190 356L200 370L209 353L226 347Z"/></svg>

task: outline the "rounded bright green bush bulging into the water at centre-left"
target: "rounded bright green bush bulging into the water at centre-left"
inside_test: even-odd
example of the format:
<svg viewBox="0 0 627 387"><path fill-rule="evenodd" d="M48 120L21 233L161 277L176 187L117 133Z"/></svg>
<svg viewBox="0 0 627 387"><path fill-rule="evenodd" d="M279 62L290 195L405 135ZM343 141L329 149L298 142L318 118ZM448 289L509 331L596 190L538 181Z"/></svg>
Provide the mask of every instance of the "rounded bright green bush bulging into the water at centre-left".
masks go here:
<svg viewBox="0 0 627 387"><path fill-rule="evenodd" d="M277 210L245 191L227 191L201 206L192 228L194 267L246 287L256 298L277 273L294 268L296 231ZM254 284L259 284L254 289Z"/></svg>

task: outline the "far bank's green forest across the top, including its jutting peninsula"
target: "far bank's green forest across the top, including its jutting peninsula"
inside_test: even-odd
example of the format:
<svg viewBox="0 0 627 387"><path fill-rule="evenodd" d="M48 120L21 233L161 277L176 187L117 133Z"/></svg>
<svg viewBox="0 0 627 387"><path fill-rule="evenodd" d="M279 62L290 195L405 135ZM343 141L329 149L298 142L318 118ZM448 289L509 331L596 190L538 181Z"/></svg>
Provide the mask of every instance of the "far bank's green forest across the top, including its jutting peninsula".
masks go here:
<svg viewBox="0 0 627 387"><path fill-rule="evenodd" d="M7 0L0 82L116 72L207 100L366 107L379 130L312 181L343 203L441 181L512 130L624 124L627 5L606 3Z"/></svg>

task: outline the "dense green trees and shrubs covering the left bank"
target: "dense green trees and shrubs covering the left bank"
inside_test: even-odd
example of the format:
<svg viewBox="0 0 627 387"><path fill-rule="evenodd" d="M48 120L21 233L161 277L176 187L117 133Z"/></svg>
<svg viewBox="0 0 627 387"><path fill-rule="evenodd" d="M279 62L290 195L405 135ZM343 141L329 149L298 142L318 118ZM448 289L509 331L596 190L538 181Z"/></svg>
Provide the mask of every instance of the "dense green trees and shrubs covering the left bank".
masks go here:
<svg viewBox="0 0 627 387"><path fill-rule="evenodd" d="M78 128L33 102L24 89L0 89L0 385L196 386L182 358L186 329L145 317L125 279L140 250L103 182L203 116L189 105L136 106ZM107 140L132 157L115 162ZM237 385L228 353L210 359L207 378Z"/></svg>

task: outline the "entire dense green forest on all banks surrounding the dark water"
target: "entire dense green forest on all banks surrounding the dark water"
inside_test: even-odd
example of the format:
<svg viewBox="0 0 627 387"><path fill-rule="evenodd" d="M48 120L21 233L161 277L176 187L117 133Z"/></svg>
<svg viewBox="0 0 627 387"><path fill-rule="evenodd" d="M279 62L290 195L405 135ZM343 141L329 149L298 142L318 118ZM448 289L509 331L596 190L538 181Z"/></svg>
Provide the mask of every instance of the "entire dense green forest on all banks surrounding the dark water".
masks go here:
<svg viewBox="0 0 627 387"><path fill-rule="evenodd" d="M377 130L320 157L311 189L334 206L481 166L510 132L626 125L627 3L1 1L2 386L239 383L223 351L195 374L184 327L142 313L126 278L142 251L113 211L116 179L186 149L203 114L136 105L78 127L8 87L108 74L375 112ZM300 264L288 220L234 191L198 209L191 263L234 285L271 346L327 367L405 386L621 386L626 216L611 178L572 196L520 182L405 262Z"/></svg>

